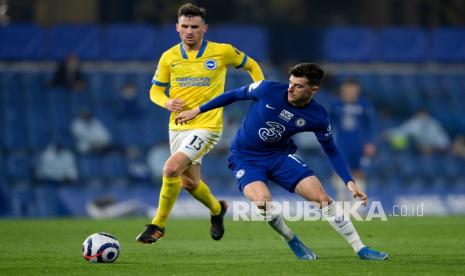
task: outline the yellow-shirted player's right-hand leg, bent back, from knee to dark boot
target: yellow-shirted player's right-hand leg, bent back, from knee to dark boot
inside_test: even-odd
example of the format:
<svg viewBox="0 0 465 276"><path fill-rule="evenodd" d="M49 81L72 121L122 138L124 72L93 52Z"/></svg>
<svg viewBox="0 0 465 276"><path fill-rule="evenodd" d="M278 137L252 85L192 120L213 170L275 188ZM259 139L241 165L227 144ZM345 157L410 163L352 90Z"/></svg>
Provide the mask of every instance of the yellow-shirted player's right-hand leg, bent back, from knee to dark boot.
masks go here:
<svg viewBox="0 0 465 276"><path fill-rule="evenodd" d="M220 240L224 235L223 218L228 205L218 200L210 191L207 184L200 178L200 164L189 166L182 176L183 188L194 198L210 209L210 235L214 240Z"/></svg>

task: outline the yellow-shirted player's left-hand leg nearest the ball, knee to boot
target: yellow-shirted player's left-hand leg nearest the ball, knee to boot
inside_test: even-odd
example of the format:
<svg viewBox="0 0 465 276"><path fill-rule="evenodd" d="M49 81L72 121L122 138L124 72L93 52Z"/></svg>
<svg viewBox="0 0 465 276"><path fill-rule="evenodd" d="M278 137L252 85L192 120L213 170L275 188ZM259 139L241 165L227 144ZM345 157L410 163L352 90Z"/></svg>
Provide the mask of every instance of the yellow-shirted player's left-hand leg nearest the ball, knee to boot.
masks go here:
<svg viewBox="0 0 465 276"><path fill-rule="evenodd" d="M157 212L151 224L137 236L138 242L153 243L163 237L166 221L181 192L181 175L190 163L190 159L182 152L176 152L166 161Z"/></svg>

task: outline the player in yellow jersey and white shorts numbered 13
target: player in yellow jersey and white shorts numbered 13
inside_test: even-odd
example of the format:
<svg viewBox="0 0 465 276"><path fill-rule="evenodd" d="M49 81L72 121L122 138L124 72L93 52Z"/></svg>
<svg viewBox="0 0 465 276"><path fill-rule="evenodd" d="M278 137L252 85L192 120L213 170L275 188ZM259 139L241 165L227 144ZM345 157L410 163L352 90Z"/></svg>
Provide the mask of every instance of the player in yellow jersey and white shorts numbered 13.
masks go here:
<svg viewBox="0 0 465 276"><path fill-rule="evenodd" d="M223 216L227 204L219 201L201 179L200 164L220 140L223 110L199 116L189 125L179 126L174 118L183 110L205 103L224 90L227 66L243 68L254 81L263 80L255 60L230 44L204 40L208 25L206 11L190 3L178 10L176 30L181 43L165 51L152 80L150 99L171 113L169 136L171 157L165 162L158 208L151 223L136 240L153 243L165 232L168 216L181 187L204 204L211 213L210 236L219 240L224 234ZM165 95L169 87L169 95Z"/></svg>

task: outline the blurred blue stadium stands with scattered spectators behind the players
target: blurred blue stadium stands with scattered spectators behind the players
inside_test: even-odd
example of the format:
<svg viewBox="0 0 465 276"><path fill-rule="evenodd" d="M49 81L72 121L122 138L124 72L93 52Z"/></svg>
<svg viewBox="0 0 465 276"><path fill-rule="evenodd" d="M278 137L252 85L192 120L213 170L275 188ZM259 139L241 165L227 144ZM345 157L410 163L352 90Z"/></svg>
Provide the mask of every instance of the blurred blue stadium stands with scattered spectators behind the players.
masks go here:
<svg viewBox="0 0 465 276"><path fill-rule="evenodd" d="M334 124L370 128L358 169L373 199L421 197L437 214L465 213L465 2L193 2L207 9L206 38L246 52L267 79L287 82L290 65L316 62L328 71L316 98L330 114L363 99L369 122ZM0 0L0 215L83 216L102 196L154 205L169 113L148 90L156 59L179 43L183 3ZM239 71L227 88L250 82ZM204 159L215 194L239 195L226 157L247 107L226 108L223 138ZM296 143L336 193L313 134Z"/></svg>

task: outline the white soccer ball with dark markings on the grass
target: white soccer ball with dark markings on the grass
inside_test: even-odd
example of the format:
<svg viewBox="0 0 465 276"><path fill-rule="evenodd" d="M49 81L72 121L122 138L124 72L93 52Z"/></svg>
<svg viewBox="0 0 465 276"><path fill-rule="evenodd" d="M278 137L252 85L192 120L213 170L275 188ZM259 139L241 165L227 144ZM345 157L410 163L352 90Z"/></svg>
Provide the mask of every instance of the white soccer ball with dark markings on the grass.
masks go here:
<svg viewBox="0 0 465 276"><path fill-rule="evenodd" d="M112 263L119 256L119 242L108 233L95 233L82 243L82 256L91 263Z"/></svg>

